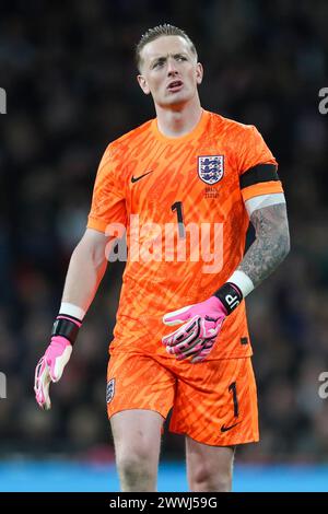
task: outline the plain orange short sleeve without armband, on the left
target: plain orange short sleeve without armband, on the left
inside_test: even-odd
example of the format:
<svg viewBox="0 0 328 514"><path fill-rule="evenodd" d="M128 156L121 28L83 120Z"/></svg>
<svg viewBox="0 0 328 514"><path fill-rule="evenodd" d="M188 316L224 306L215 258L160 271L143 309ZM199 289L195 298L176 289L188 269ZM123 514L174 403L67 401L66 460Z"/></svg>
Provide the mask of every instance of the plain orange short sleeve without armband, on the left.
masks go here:
<svg viewBox="0 0 328 514"><path fill-rule="evenodd" d="M122 180L117 174L118 159L110 144L98 166L92 196L87 227L106 232L108 225L127 225L126 200Z"/></svg>

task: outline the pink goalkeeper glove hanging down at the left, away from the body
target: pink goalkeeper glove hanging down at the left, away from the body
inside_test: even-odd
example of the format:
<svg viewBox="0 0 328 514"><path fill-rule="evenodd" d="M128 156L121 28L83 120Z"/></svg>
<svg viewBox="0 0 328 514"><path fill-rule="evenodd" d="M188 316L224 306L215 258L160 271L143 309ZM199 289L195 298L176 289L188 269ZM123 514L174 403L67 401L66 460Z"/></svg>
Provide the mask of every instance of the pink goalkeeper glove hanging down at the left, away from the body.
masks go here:
<svg viewBox="0 0 328 514"><path fill-rule="evenodd" d="M51 407L49 386L61 378L65 366L72 353L81 322L71 316L59 315L54 324L51 342L35 370L34 392L38 405L48 410Z"/></svg>

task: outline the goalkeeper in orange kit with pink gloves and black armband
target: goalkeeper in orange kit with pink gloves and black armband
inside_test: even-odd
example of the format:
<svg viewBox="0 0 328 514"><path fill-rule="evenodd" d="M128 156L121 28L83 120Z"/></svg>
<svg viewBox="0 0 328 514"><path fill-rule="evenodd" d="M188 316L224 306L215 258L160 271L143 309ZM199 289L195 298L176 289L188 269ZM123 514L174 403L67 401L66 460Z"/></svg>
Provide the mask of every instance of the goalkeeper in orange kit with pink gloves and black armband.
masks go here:
<svg viewBox="0 0 328 514"><path fill-rule="evenodd" d="M185 32L149 30L136 57L156 117L112 142L101 161L87 227L36 367L36 400L50 408L49 385L60 379L106 255L125 234L106 389L121 490L156 490L173 409L169 430L186 439L190 490L230 491L235 447L259 440L245 297L289 253L283 189L258 130L201 107L203 69ZM256 238L244 255L249 221Z"/></svg>

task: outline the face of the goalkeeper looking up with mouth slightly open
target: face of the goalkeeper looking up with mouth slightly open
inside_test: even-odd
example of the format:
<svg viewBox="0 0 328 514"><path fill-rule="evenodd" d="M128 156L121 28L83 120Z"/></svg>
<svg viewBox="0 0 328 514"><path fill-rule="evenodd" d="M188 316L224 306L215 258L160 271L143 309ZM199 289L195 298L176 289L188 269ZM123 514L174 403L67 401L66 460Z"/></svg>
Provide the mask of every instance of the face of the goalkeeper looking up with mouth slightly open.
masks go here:
<svg viewBox="0 0 328 514"><path fill-rule="evenodd" d="M197 94L202 66L184 37L161 36L142 48L141 73L138 82L155 104L178 106Z"/></svg>

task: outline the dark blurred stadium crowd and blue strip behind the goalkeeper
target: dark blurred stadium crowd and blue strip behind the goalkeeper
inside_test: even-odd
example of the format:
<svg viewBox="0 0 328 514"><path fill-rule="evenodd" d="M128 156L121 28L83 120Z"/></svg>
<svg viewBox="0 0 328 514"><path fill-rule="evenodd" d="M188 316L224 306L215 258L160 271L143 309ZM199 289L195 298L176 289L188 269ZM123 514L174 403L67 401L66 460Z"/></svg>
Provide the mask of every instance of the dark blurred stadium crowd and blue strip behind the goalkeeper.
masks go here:
<svg viewBox="0 0 328 514"><path fill-rule="evenodd" d="M325 0L1 3L0 490L118 488L105 382L122 265L108 267L51 411L33 377L102 153L154 117L133 48L164 22L198 48L203 106L260 129L288 198L292 253L247 300L261 442L237 451L234 489L328 490L327 20ZM160 490L186 490L183 459L166 432Z"/></svg>

